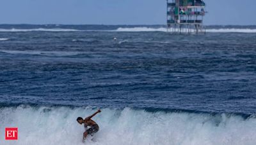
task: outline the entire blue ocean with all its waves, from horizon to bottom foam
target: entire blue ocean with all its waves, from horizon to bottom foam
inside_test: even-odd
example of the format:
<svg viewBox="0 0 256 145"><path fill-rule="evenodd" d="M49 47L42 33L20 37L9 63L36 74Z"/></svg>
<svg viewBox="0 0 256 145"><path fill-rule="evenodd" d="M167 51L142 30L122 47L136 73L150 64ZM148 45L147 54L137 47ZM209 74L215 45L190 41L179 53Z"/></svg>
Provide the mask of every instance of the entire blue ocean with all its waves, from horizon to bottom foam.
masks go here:
<svg viewBox="0 0 256 145"><path fill-rule="evenodd" d="M97 108L85 144L256 144L256 26L206 32L0 25L0 144L84 144Z"/></svg>

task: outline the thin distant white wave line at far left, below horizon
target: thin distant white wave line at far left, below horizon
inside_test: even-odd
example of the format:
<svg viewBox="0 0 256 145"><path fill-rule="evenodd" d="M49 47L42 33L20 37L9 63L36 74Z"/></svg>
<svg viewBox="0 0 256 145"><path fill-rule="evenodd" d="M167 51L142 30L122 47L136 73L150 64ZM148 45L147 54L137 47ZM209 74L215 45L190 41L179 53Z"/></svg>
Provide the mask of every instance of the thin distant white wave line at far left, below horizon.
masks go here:
<svg viewBox="0 0 256 145"><path fill-rule="evenodd" d="M30 31L49 31L49 32L76 32L81 31L77 29L45 29L45 28L37 28L37 29L0 29L0 32L30 32Z"/></svg>

